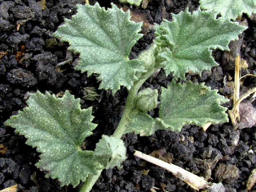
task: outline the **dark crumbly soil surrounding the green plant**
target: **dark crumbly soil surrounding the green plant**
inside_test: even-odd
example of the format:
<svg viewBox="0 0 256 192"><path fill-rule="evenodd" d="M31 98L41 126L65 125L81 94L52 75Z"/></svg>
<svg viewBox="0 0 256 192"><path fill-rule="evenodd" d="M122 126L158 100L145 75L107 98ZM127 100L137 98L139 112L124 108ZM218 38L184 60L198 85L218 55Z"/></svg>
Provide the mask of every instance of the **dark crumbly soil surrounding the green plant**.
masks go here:
<svg viewBox="0 0 256 192"><path fill-rule="evenodd" d="M43 2L43 1L42 1ZM23 136L14 133L14 129L3 125L11 115L26 106L28 92L45 90L57 94L70 90L76 98L84 96L83 87L99 86L95 75L90 78L74 70L79 55L67 51L68 43L61 43L52 36L64 18L76 13L76 4L84 0L47 0L42 10L35 0L0 0L0 188L18 184L24 192L78 191L72 186L60 187L59 181L44 177L44 172L34 164L39 160L35 148L25 144ZM118 1L112 3L122 7ZM90 1L94 4L95 0ZM99 1L104 7L110 7L110 1ZM129 5L126 5L130 7ZM172 19L170 13L179 13L189 7L197 9L198 0L152 0L146 9L131 6L146 15L148 23L161 23L162 19ZM241 21L248 23L248 29L240 35L241 57L248 63L242 75L256 74L256 24L243 15ZM255 21L254 21L255 22ZM154 31L132 48L130 58L136 58L154 39ZM232 49L232 48L231 48ZM220 64L211 71L203 71L202 76L187 74L193 82L205 82L212 89L218 89L222 95L231 98L233 89L229 86L234 79L233 52L214 50L213 56ZM57 63L67 61L56 69ZM144 87L161 91L172 81L163 70L150 77ZM228 83L229 84L228 84ZM241 94L256 86L255 77L246 77L241 85ZM97 90L101 94L101 90ZM102 134L111 135L116 128L127 97L127 89L121 88L113 96L109 90L102 92L102 99L89 101L81 99L82 108L93 106L94 123L99 126L94 134L84 142L86 149L94 149ZM247 99L256 105L253 98ZM231 101L225 104L231 109ZM149 113L158 115L158 109ZM196 126L185 126L181 132L158 130L149 137L140 137L133 133L123 136L127 146L127 160L123 168L104 170L94 185L94 192L146 192L153 186L175 192L193 191L187 184L171 173L150 163L135 158L134 150L164 158L167 162L186 168L196 175L218 183L222 181L226 192L245 192L246 181L252 169L256 168L256 129L234 130L231 123L212 125L206 132ZM148 171L149 170L149 171ZM226 171L231 174L227 176ZM147 172L148 171L148 172ZM156 189L157 190L157 189ZM162 191L162 190L157 190ZM256 186L251 192L256 191Z"/></svg>

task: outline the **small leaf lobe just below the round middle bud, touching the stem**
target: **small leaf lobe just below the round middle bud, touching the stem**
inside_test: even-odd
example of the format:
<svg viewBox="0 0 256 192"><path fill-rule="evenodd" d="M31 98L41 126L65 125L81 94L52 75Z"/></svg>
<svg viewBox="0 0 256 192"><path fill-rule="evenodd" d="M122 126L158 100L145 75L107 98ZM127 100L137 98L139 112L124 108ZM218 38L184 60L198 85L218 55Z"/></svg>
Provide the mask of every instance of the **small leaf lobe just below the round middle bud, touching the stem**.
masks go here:
<svg viewBox="0 0 256 192"><path fill-rule="evenodd" d="M130 123L125 133L135 132L140 136L150 136L157 130L155 119L141 110L133 110L130 116Z"/></svg>

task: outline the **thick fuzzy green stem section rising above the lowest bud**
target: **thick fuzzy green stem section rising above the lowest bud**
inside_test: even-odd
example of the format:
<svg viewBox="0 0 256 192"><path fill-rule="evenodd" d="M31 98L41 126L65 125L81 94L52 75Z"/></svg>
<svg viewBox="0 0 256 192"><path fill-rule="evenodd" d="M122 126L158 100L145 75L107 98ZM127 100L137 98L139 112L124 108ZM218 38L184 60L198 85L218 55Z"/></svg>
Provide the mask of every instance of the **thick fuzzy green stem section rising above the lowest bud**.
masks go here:
<svg viewBox="0 0 256 192"><path fill-rule="evenodd" d="M142 77L139 78L138 81L134 82L133 86L129 90L122 117L120 119L120 122L119 122L116 130L114 131L114 133L112 135L113 137L121 138L123 136L125 129L126 129L126 125L129 123L129 117L133 110L133 100L135 99L135 97L136 97L140 87L143 85L143 83L156 70L158 70L158 68L153 68L152 70L148 70Z"/></svg>

